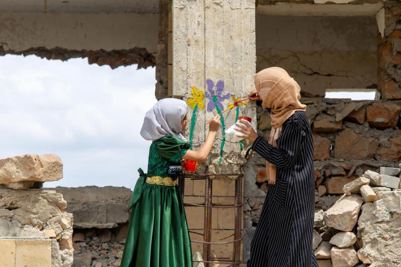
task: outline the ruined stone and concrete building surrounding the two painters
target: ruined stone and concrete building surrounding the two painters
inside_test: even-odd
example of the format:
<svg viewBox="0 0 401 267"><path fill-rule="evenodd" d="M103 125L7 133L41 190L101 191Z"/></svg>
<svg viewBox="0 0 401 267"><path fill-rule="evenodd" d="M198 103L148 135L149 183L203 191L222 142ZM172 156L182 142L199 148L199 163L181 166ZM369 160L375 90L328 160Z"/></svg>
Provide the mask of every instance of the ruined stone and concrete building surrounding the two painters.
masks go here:
<svg viewBox="0 0 401 267"><path fill-rule="evenodd" d="M380 168L399 168L401 161L399 1L97 0L95 3L84 0L77 3L45 0L27 3L5 0L0 6L0 22L2 55L35 54L60 60L87 57L90 64L111 68L131 64L138 64L138 68L155 66L155 97L189 100L188 117L192 123L187 134L195 149L204 139L205 122L221 112L221 107L227 108L254 88L256 71L270 66L285 68L301 86L301 101L307 105L314 132L314 247L319 264L401 266L401 251L396 245L401 242L400 193L395 186L400 174L397 169ZM376 96L361 101L325 98L331 91L373 91ZM224 127L231 126L238 116L251 117L259 134L269 135L268 110L255 103L235 107L225 114ZM268 186L265 161L257 156L247 161L244 156L248 147L247 142L239 142L221 132L212 157L198 169L199 174L211 175L213 186L208 203L232 206L212 209L208 225L210 241L224 244L207 247L204 243L193 243L194 252L203 253L203 260L205 254L225 259L221 262L237 261L233 259L235 253L241 262L249 258L251 237ZM226 176L213 177L216 174ZM238 191L235 180L242 174L243 190ZM0 179L3 179L1 173ZM186 207L194 241L204 240L205 207L202 205L207 204L205 194L210 188L206 181L185 179L184 202L200 204ZM3 184L10 182L1 180ZM350 182L353 183L350 185ZM22 188L34 184L28 182ZM352 187L351 195L340 199L346 184L349 184L346 188ZM366 184L374 189L377 199ZM17 189L1 190L0 194L5 194L1 195L2 203L9 198L6 192ZM54 237L47 237L46 227L39 227L38 221L21 223L18 213L30 218L23 213L29 209L23 205L29 206L29 203L15 209L20 210L18 213L13 212L15 205L5 209L1 205L0 225L17 221L19 233L32 227L37 228L35 232L44 232L44 237L39 239L48 242L50 247L58 245L55 251L60 254L51 260L54 263L53 258L60 257L57 258L61 259L57 262L60 266L69 266L70 258L63 255L68 254L65 249L71 253L71 247L75 266L119 266L129 214L124 207L128 206L130 190L97 187L56 188L57 193L44 189L18 190L22 195L35 190L47 194L46 197L51 194L52 200L48 200L51 207L67 201L66 210L61 205L54 216L70 218L68 214L73 214L73 239L68 235L72 219L57 221L65 228L57 228L59 232L56 230ZM241 221L236 222L238 214L234 206L239 203L235 194L241 191L243 212ZM77 197L77 192L82 192L87 199ZM344 206L349 210L342 210ZM350 216L353 224L337 225L338 214ZM49 220L52 219L45 221ZM242 241L238 241L240 253L229 243L236 241L234 228L238 223L242 230ZM8 236L2 229L1 235ZM25 233L11 234L21 235ZM340 237L348 241L338 242ZM0 251L5 242L17 244L19 239L0 239ZM210 251L204 251L205 248ZM206 258L212 260L210 255Z"/></svg>

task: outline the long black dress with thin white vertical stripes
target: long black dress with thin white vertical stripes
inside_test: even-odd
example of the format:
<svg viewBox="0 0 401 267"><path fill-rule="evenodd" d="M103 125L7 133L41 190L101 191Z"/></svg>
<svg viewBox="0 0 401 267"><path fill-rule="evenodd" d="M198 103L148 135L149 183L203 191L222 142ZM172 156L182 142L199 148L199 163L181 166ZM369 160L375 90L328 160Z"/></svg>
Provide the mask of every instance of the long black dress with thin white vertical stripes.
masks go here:
<svg viewBox="0 0 401 267"><path fill-rule="evenodd" d="M297 111L284 123L277 148L259 136L252 149L277 167L277 178L267 192L248 267L317 267L313 138L305 112Z"/></svg>

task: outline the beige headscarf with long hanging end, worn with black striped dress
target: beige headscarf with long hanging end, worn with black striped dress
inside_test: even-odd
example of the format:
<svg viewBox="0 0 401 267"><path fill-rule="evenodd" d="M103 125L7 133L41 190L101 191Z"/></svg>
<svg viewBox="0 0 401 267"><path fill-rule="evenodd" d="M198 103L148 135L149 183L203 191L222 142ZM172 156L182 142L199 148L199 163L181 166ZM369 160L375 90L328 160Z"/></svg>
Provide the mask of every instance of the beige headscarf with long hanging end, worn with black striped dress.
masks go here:
<svg viewBox="0 0 401 267"><path fill-rule="evenodd" d="M305 111L306 106L301 104L301 87L282 68L271 67L259 71L254 75L255 87L263 108L270 108L271 132L269 143L277 147L277 138L280 136L284 122L296 111ZM268 183L276 183L276 167L266 162Z"/></svg>

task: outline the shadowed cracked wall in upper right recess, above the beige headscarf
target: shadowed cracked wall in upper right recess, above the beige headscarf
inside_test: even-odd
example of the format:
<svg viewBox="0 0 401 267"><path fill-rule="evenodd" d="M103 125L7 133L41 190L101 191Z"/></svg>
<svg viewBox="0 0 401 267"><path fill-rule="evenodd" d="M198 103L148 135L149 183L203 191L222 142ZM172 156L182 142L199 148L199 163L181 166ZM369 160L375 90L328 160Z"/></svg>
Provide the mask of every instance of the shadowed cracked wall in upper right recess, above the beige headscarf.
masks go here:
<svg viewBox="0 0 401 267"><path fill-rule="evenodd" d="M256 70L286 69L304 96L325 89L377 88L374 16L256 15Z"/></svg>

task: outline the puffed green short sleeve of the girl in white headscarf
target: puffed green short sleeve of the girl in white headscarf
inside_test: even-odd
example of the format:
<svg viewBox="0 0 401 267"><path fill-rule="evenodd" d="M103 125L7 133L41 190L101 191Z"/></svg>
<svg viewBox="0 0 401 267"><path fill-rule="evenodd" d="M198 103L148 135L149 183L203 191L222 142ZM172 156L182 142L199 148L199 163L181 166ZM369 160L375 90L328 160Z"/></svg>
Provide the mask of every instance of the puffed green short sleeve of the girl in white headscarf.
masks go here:
<svg viewBox="0 0 401 267"><path fill-rule="evenodd" d="M191 144L172 135L166 135L154 141L157 153L168 160L178 162Z"/></svg>

